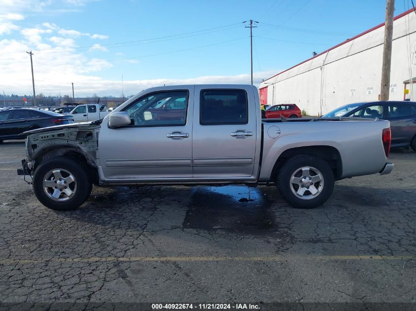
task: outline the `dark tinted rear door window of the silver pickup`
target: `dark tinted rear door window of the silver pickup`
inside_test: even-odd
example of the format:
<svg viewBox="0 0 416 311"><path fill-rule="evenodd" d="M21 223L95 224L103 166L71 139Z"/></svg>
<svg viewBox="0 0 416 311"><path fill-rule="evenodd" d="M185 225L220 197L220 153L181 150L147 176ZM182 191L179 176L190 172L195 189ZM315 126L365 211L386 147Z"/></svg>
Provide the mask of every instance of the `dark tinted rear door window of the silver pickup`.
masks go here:
<svg viewBox="0 0 416 311"><path fill-rule="evenodd" d="M247 124L247 93L241 89L203 89L200 93L201 125Z"/></svg>

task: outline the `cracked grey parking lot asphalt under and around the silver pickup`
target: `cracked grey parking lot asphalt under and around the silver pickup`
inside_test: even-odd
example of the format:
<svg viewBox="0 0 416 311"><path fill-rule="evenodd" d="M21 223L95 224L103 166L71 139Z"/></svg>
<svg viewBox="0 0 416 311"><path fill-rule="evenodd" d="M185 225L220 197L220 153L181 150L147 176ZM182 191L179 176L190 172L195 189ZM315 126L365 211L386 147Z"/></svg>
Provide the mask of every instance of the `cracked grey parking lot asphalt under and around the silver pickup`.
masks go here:
<svg viewBox="0 0 416 311"><path fill-rule="evenodd" d="M357 155L358 156L358 155ZM416 153L312 210L274 186L95 187L42 206L0 145L1 302L416 302Z"/></svg>

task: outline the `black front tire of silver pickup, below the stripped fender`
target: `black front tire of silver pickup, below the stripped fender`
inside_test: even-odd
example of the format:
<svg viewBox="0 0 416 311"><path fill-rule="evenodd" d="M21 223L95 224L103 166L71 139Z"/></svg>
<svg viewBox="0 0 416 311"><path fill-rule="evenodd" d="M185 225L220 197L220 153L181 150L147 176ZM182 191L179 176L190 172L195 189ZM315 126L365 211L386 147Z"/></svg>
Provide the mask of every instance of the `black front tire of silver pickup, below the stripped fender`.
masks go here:
<svg viewBox="0 0 416 311"><path fill-rule="evenodd" d="M58 200L54 200L53 198L50 198L50 196L52 196L53 191L55 191L54 188L48 187L47 191L45 191L43 188L44 179L48 179L48 181L51 181L51 182L58 181L55 177L52 177L52 175L54 174L50 173L52 170L58 170L58 169L62 170L62 171L59 171L59 174L62 175L63 182L66 178L69 177L69 174L67 174L68 172L72 174L75 180L74 182L70 182L70 183L65 182L66 185L65 184L57 185L63 191L66 191L63 188L67 186L68 190L70 190L70 192L73 193L71 197L68 197L66 193L61 193L61 194L57 193L59 195L58 198L61 198L61 199L66 198L66 200L62 200L62 201L58 201ZM51 158L49 160L45 160L43 163L40 164L39 167L36 168L33 174L33 191L36 195L36 198L46 207L56 210L56 211L69 211L69 210L74 210L78 208L90 196L91 190L93 187L93 184L89 180L86 171L87 171L87 168L85 164L83 164L82 162L78 162L72 158L56 157L56 158ZM51 178L48 178L48 176L51 176ZM46 192L48 192L49 195L46 194Z"/></svg>

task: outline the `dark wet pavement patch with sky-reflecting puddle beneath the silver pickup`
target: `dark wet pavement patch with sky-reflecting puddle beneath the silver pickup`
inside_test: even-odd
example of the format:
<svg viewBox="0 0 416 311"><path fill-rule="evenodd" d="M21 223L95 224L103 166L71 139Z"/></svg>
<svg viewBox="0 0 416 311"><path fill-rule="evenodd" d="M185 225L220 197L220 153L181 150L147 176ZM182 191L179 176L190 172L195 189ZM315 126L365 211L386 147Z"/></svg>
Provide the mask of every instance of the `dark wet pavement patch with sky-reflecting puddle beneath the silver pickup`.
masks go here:
<svg viewBox="0 0 416 311"><path fill-rule="evenodd" d="M271 204L257 188L192 187L184 228L262 234L275 231Z"/></svg>

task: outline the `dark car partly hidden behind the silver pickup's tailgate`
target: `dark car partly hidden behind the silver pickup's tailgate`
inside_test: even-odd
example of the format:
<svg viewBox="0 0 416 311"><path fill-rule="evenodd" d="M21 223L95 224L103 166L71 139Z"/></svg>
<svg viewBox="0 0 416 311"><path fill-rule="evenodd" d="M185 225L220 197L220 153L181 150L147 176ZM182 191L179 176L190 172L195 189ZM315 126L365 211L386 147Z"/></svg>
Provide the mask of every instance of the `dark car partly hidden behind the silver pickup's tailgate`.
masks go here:
<svg viewBox="0 0 416 311"><path fill-rule="evenodd" d="M416 151L416 102L380 101L344 105L322 117L351 116L390 121L391 146L411 147Z"/></svg>

